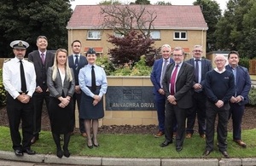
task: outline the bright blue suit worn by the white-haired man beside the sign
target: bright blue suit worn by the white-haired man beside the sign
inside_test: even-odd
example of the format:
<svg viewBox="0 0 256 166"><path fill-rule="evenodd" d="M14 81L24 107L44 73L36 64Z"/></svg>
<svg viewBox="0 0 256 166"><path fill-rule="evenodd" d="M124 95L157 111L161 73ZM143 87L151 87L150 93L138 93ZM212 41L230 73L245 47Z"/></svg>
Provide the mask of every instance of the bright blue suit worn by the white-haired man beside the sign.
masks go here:
<svg viewBox="0 0 256 166"><path fill-rule="evenodd" d="M170 58L169 64L173 62L174 60ZM166 95L162 95L158 92L158 90L161 89L160 77L162 74L163 63L164 63L163 58L154 61L154 66L150 74L150 79L154 85L153 94L154 94L154 102L157 110L159 130L164 133L165 132Z"/></svg>

